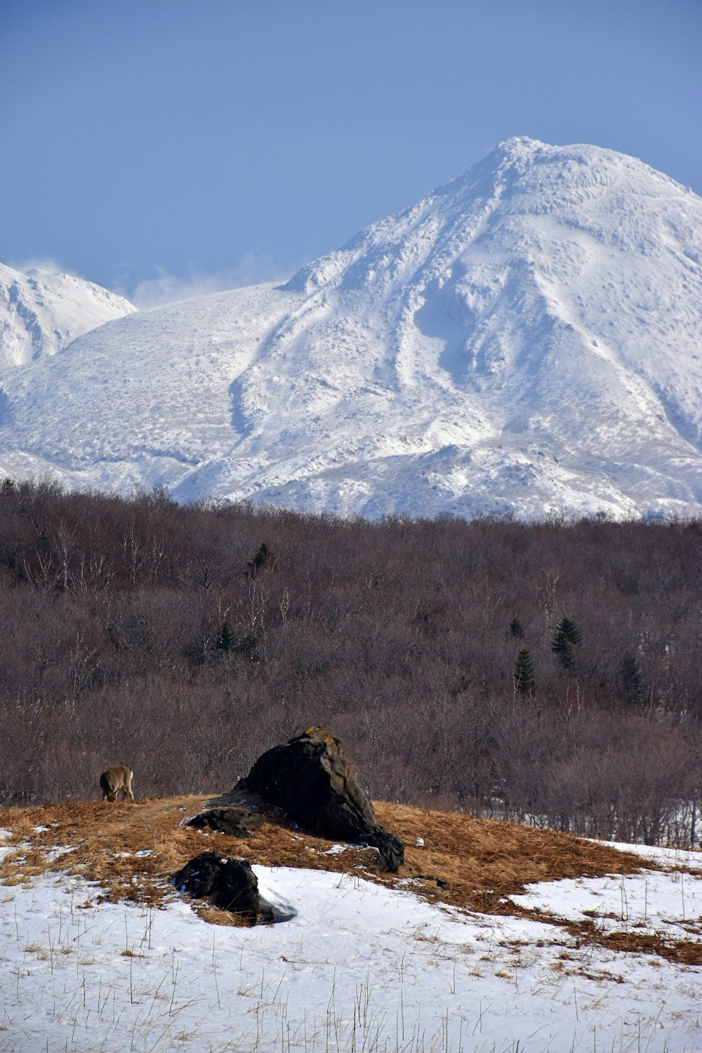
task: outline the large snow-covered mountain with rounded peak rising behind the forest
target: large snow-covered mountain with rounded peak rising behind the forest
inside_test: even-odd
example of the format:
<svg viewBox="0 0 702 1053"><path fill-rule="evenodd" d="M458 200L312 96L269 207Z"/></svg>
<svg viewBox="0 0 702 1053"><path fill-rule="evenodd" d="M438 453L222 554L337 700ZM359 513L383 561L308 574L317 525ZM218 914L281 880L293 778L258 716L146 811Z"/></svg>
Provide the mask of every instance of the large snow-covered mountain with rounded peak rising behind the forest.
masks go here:
<svg viewBox="0 0 702 1053"><path fill-rule="evenodd" d="M702 199L510 139L282 286L5 375L0 466L360 513L702 514Z"/></svg>

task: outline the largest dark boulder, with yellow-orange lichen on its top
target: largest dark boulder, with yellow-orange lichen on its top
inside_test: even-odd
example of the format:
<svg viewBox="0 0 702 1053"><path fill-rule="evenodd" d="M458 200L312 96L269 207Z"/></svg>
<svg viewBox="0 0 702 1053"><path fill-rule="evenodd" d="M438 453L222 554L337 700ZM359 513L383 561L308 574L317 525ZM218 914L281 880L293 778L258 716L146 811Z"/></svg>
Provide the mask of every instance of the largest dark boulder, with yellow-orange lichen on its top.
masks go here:
<svg viewBox="0 0 702 1053"><path fill-rule="evenodd" d="M397 870L404 859L402 840L378 826L368 795L326 728L308 728L262 754L237 790L259 794L312 834L374 846L384 870Z"/></svg>

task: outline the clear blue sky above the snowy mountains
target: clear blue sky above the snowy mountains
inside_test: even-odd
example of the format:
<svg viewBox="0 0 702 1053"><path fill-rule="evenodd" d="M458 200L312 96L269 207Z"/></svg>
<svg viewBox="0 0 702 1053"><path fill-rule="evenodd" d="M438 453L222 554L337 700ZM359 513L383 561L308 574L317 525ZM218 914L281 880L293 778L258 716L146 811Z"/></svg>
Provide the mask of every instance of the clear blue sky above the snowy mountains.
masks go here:
<svg viewBox="0 0 702 1053"><path fill-rule="evenodd" d="M700 0L2 0L0 260L138 302L268 280L502 139L702 193Z"/></svg>

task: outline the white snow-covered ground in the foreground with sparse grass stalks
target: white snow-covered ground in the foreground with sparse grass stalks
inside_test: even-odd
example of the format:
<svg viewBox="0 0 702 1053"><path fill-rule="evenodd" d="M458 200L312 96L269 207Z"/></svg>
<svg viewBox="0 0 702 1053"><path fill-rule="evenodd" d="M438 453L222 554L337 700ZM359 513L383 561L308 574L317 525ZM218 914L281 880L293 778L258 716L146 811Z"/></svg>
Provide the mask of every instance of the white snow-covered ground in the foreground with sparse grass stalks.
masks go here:
<svg viewBox="0 0 702 1053"><path fill-rule="evenodd" d="M212 926L175 895L162 910L96 905L95 887L66 876L0 886L0 1051L702 1049L698 967L435 906L410 886L254 869L288 920ZM515 899L566 918L595 908L602 925L676 939L699 938L702 920L702 878L678 871L554 881Z"/></svg>

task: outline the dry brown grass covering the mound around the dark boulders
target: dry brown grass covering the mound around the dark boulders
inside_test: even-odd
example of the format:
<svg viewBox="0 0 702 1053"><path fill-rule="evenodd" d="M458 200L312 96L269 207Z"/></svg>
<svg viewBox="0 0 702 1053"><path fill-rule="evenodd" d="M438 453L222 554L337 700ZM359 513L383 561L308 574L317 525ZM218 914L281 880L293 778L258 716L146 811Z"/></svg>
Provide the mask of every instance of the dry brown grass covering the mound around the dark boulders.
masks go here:
<svg viewBox="0 0 702 1053"><path fill-rule="evenodd" d="M508 899L533 881L656 869L639 856L606 843L494 819L377 801L379 822L405 842L405 862L399 873L379 874L373 870L373 850L349 848L329 855L333 841L303 833L279 816L276 821L268 816L246 838L185 826L187 818L212 799L189 795L134 803L68 801L4 810L0 812L0 827L9 831L5 845L11 843L13 849L0 863L0 881L26 885L41 873L69 873L96 882L97 902L127 899L158 907L174 894L168 883L171 875L198 853L216 849L222 855L241 856L269 867L342 873L361 870L364 876L384 885L413 879L413 890L432 901L493 914L521 913L563 925L581 942L702 963L702 947L691 940L665 941L631 930L604 934L588 919L565 923L543 913L523 911ZM422 848L416 847L418 837L423 838ZM71 851L56 853L57 848ZM199 906L198 913L220 925L241 923L226 912L206 906Z"/></svg>

